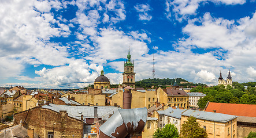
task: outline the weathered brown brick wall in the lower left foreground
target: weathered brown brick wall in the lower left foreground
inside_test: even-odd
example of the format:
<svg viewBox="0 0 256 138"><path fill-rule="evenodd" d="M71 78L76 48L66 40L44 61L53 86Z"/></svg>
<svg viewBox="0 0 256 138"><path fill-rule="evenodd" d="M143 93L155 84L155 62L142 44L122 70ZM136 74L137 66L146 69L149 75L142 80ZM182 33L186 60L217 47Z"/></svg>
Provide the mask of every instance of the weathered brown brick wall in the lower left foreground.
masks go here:
<svg viewBox="0 0 256 138"><path fill-rule="evenodd" d="M34 129L40 137L48 137L49 132L54 133L54 137L83 136L83 121L69 117L66 111L58 113L37 107L14 114L14 125L20 124L20 121L25 121L23 124Z"/></svg>

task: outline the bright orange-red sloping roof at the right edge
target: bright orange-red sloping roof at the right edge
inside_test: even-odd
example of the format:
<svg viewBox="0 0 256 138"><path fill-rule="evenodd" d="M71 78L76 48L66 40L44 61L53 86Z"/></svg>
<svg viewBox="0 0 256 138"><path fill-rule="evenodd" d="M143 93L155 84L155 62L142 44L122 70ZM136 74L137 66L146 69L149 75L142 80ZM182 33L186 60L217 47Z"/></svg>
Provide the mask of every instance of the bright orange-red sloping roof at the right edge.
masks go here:
<svg viewBox="0 0 256 138"><path fill-rule="evenodd" d="M209 102L205 111L213 112L213 110L216 110L217 113L230 114L235 116L256 117L256 105Z"/></svg>

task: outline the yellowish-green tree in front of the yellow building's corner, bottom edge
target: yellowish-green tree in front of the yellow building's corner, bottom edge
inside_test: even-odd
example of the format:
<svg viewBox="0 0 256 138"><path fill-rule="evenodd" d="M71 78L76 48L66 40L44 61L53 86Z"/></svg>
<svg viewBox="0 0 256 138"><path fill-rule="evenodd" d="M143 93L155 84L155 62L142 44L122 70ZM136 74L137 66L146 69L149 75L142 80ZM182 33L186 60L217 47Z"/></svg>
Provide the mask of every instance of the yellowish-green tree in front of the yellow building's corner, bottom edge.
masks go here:
<svg viewBox="0 0 256 138"><path fill-rule="evenodd" d="M195 117L189 117L181 126L180 138L204 138L208 137L205 129L200 127Z"/></svg>

